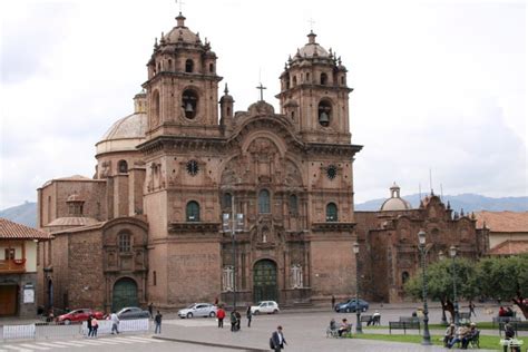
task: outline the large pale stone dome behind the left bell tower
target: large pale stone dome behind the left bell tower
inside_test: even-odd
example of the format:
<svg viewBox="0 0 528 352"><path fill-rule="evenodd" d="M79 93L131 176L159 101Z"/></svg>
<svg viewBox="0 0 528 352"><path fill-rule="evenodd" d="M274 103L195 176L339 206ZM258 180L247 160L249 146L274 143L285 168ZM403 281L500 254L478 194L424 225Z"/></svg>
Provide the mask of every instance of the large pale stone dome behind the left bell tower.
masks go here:
<svg viewBox="0 0 528 352"><path fill-rule="evenodd" d="M147 133L146 95L134 98L135 113L117 120L96 144L97 155L135 150ZM143 104L145 102L145 104Z"/></svg>

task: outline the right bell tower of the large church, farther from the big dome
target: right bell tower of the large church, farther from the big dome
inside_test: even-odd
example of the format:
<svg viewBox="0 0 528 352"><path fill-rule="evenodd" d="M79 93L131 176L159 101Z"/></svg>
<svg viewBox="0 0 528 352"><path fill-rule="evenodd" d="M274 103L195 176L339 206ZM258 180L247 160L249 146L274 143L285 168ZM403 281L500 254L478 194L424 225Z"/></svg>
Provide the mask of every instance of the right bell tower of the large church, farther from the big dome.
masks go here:
<svg viewBox="0 0 528 352"><path fill-rule="evenodd" d="M305 141L350 143L346 68L332 49L326 51L307 35L309 42L290 57L281 75L281 113Z"/></svg>

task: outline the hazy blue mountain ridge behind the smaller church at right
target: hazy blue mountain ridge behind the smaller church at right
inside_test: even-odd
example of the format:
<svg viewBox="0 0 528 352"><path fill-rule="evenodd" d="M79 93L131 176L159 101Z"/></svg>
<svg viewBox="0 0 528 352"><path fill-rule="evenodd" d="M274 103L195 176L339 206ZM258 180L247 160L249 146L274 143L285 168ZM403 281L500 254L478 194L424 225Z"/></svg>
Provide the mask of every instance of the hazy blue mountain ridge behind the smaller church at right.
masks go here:
<svg viewBox="0 0 528 352"><path fill-rule="evenodd" d="M424 196L424 194L422 194ZM420 204L420 196L412 194L403 196L403 199L411 203L413 208L417 208ZM355 204L356 211L379 211L381 205L387 198L372 199L364 203ZM454 212L463 209L465 213L471 212L528 212L528 197L502 197L502 198L490 198L478 194L465 193L457 196L443 196L443 203L448 202L451 204L451 208Z"/></svg>

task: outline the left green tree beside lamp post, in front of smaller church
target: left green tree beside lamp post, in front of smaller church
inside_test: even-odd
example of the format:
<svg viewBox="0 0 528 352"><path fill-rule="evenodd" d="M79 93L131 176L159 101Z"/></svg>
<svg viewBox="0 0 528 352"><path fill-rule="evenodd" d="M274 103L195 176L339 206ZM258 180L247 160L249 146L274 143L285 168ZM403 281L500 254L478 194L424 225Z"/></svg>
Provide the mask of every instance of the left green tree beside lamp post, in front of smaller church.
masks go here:
<svg viewBox="0 0 528 352"><path fill-rule="evenodd" d="M443 260L432 263L428 266L426 275L428 281L428 297L438 300L443 311L451 314L454 321L453 303L453 275L452 261ZM473 299L479 293L477 285L477 271L475 262L467 258L454 260L454 274L457 283L457 300L459 297ZM405 286L405 293L414 299L422 297L422 274L421 271L411 277Z"/></svg>

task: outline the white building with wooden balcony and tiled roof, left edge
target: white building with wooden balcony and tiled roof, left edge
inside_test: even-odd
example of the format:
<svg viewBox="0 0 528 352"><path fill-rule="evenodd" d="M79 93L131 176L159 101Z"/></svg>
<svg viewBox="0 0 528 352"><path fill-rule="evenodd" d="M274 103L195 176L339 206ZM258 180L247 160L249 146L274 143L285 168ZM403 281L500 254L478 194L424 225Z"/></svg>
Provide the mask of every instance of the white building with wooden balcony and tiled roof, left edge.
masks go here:
<svg viewBox="0 0 528 352"><path fill-rule="evenodd" d="M0 316L37 314L37 252L50 239L47 232L0 217Z"/></svg>

